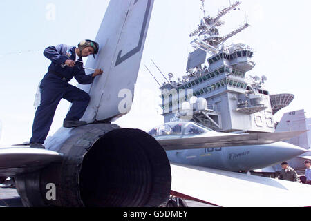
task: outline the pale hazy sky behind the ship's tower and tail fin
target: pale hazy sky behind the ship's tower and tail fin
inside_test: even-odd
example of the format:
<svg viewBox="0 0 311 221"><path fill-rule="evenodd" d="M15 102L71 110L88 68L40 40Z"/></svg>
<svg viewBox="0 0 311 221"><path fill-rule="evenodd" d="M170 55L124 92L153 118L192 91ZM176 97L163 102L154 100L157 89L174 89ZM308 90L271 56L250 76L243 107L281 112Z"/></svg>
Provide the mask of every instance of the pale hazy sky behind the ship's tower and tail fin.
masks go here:
<svg viewBox="0 0 311 221"><path fill-rule="evenodd" d="M0 1L0 144L18 144L32 135L35 92L50 64L42 54L44 48L57 44L76 46L82 39L94 39L108 3L104 0ZM214 16L228 4L228 0L206 0L205 8ZM251 27L227 43L243 42L254 48L256 67L250 74L266 75L270 94L295 95L292 104L274 116L275 121L285 112L302 108L311 117L310 6L307 0L244 0L241 10L223 19L227 23L220 32L225 35L247 17ZM188 52L192 50L189 33L196 29L203 15L199 8L199 0L155 0L132 111L115 123L147 130L163 122L159 115L158 84L143 64L161 83L164 79L150 59L164 73L184 75ZM70 83L77 84L75 80ZM49 135L62 126L69 105L65 100L59 104Z"/></svg>

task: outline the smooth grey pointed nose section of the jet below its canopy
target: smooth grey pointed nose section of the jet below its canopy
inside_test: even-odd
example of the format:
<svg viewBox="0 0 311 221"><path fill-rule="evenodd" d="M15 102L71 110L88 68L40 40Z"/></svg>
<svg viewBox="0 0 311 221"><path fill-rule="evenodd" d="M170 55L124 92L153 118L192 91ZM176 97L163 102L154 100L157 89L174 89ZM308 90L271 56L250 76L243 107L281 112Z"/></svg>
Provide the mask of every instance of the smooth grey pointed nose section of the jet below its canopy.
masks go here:
<svg viewBox="0 0 311 221"><path fill-rule="evenodd" d="M232 146L166 151L170 162L225 171L251 171L289 160L303 149L285 142L257 146Z"/></svg>

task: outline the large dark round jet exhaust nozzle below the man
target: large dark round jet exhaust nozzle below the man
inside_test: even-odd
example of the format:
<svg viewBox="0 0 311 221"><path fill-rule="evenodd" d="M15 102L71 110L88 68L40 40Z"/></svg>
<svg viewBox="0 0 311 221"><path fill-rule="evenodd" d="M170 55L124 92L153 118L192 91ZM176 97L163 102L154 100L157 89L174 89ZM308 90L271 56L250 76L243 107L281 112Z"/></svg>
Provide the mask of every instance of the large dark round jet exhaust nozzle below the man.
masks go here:
<svg viewBox="0 0 311 221"><path fill-rule="evenodd" d="M169 198L169 160L144 131L91 124L61 128L53 137L45 146L63 153L64 160L17 177L24 206L160 206ZM46 199L50 183L55 200Z"/></svg>

